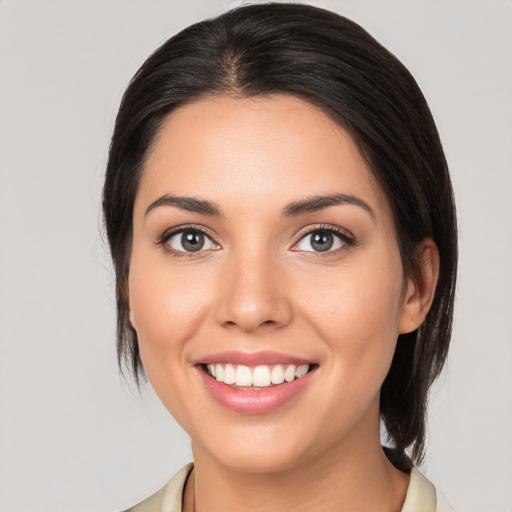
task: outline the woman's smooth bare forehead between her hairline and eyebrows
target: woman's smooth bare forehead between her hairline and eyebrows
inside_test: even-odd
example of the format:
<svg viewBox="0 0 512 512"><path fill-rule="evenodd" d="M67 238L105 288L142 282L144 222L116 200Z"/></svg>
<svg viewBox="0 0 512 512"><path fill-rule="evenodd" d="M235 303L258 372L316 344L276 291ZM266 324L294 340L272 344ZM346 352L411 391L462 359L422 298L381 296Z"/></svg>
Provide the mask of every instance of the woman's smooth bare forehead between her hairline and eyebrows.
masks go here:
<svg viewBox="0 0 512 512"><path fill-rule="evenodd" d="M172 112L146 159L136 208L166 193L268 209L344 193L387 210L352 137L288 95L206 98Z"/></svg>

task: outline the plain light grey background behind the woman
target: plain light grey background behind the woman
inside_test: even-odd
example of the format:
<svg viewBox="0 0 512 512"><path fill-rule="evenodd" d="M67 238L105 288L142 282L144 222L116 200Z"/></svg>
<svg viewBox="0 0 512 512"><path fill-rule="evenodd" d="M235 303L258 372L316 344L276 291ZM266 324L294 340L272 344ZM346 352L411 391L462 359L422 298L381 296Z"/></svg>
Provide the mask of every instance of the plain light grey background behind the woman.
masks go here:
<svg viewBox="0 0 512 512"><path fill-rule="evenodd" d="M453 348L423 470L457 510L512 511L512 2L311 2L417 78L460 219ZM122 381L100 193L124 88L228 0L0 0L0 510L114 511L190 460L146 386Z"/></svg>

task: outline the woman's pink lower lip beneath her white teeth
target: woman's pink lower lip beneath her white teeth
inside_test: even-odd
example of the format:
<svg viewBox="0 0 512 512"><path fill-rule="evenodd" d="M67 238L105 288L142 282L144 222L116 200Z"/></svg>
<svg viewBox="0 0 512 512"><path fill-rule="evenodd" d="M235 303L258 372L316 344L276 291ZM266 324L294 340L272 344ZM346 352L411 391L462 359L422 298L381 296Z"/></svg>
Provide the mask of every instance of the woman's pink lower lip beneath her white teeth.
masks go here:
<svg viewBox="0 0 512 512"><path fill-rule="evenodd" d="M297 396L310 382L314 370L304 377L283 382L276 386L261 388L260 390L236 389L216 381L203 367L199 367L199 374L210 394L224 407L240 414L264 414L282 407Z"/></svg>

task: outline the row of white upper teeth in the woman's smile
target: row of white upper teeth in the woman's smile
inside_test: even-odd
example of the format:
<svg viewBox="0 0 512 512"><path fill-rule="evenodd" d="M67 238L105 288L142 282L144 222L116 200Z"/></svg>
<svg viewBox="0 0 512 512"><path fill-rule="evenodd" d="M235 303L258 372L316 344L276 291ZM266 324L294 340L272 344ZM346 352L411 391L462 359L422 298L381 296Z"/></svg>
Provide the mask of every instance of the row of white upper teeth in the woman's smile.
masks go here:
<svg viewBox="0 0 512 512"><path fill-rule="evenodd" d="M254 368L233 364L209 364L208 371L212 377L224 384L237 386L255 386L258 388L271 384L282 384L303 377L308 373L309 365L276 364L275 366L260 365Z"/></svg>

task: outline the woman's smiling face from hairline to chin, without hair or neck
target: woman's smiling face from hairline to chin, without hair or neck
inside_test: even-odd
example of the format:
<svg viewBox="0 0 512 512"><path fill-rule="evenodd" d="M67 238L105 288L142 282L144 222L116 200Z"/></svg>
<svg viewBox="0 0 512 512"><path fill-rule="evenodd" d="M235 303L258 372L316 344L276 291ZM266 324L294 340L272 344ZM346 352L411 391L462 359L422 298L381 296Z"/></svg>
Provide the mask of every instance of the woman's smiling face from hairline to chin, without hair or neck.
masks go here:
<svg viewBox="0 0 512 512"><path fill-rule="evenodd" d="M133 226L130 319L196 456L275 471L379 443L413 285L343 129L285 95L183 106L147 158Z"/></svg>

